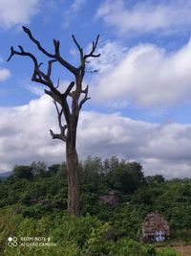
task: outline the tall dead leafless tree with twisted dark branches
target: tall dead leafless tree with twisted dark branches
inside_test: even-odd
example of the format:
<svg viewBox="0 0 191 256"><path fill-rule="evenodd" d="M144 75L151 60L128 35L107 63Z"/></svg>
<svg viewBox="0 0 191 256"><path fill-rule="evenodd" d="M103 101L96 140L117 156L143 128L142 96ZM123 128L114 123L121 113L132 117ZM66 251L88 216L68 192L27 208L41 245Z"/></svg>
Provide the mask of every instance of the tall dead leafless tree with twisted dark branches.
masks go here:
<svg viewBox="0 0 191 256"><path fill-rule="evenodd" d="M48 61L47 72L41 69L42 63L38 63L37 58L30 52L26 52L22 46L18 46L19 51L15 51L11 47L11 55L8 61L14 56L26 56L33 61L33 73L32 81L44 84L47 89L45 93L53 98L53 103L55 105L58 117L58 125L60 128L60 133L55 134L52 129L50 129L53 139L60 139L66 143L66 162L68 169L68 213L70 215L78 216L80 214L79 205L79 174L78 174L78 155L76 151L76 130L79 118L79 112L86 101L90 99L88 97L89 87L88 85L83 88L82 81L85 75L85 66L89 58L97 58L100 55L96 54L96 47L98 43L99 35L96 36L96 40L93 41L91 50L88 54L84 54L83 48L76 41L74 35L74 44L78 49L80 55L80 64L75 67L69 63L65 58L60 56L60 42L53 39L54 53L49 53L41 43L36 40L30 29L23 27L24 32L30 37L32 42L37 46L38 50L50 58ZM53 83L52 80L52 67L53 63L58 62L64 68L74 75L74 81L68 85L64 92L60 92L58 89L59 81L57 84ZM69 97L71 101L69 102ZM71 103L71 105L70 105ZM63 125L63 120L65 124Z"/></svg>

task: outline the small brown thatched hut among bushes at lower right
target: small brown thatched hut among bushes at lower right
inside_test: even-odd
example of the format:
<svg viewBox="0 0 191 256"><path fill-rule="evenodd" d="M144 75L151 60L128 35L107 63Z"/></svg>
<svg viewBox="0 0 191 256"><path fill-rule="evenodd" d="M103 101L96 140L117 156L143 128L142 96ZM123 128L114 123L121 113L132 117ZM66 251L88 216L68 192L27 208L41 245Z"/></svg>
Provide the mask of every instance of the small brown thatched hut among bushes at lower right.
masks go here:
<svg viewBox="0 0 191 256"><path fill-rule="evenodd" d="M170 227L160 214L150 213L142 224L143 241L163 242L170 236Z"/></svg>

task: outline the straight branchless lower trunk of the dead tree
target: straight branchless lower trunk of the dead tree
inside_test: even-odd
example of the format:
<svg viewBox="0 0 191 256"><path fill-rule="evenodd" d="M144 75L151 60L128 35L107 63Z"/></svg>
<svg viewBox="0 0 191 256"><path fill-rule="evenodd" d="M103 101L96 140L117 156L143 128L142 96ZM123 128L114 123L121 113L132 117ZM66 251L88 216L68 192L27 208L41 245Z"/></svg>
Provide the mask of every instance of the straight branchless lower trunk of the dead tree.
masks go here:
<svg viewBox="0 0 191 256"><path fill-rule="evenodd" d="M66 163L68 171L68 214L79 216L80 214L80 193L78 175L78 156L71 143L66 142Z"/></svg>

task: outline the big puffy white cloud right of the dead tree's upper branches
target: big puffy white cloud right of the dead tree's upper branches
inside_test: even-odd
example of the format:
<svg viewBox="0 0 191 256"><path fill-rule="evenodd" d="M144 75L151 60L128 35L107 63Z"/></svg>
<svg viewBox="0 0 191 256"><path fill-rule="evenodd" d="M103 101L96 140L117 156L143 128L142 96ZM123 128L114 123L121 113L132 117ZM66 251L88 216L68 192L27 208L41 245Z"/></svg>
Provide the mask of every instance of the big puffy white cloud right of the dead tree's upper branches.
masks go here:
<svg viewBox="0 0 191 256"><path fill-rule="evenodd" d="M110 59L109 53L100 57L103 63L107 56ZM91 94L99 102L121 100L146 107L190 101L190 57L191 41L174 53L156 45L140 44L124 52L117 63L111 61L109 68L102 68L104 72L94 77L96 86ZM98 63L96 67L99 68Z"/></svg>

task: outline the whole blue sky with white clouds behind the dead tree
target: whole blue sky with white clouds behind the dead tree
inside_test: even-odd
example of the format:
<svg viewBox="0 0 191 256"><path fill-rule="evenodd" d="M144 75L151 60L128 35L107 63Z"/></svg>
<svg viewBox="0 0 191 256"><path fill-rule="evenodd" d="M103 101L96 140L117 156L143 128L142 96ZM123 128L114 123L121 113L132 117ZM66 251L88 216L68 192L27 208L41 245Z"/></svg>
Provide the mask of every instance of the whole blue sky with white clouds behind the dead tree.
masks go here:
<svg viewBox="0 0 191 256"><path fill-rule="evenodd" d="M140 162L147 175L191 176L190 11L189 0L0 0L0 172L17 163L62 161L64 146L49 136L55 111L43 86L31 81L31 59L6 61L10 47L22 45L46 67L25 25L50 52L59 39L62 56L74 65L71 35L86 51L100 35L101 56L84 79L92 99L79 122L81 159L117 155ZM58 78L62 89L73 79L55 65Z"/></svg>

